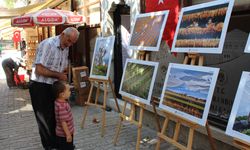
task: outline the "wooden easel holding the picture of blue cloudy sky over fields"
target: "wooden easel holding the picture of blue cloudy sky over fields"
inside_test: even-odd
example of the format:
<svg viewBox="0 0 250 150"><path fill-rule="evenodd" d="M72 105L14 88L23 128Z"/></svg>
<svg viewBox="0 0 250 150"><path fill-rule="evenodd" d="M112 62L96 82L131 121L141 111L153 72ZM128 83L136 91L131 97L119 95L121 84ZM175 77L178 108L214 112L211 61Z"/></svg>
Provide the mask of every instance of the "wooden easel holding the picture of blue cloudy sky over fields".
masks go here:
<svg viewBox="0 0 250 150"><path fill-rule="evenodd" d="M202 66L203 62L204 62L204 56L200 56L199 54L190 53L187 56L185 56L183 64L195 65L196 60L198 60L197 65ZM194 130L197 129L198 124L191 122L183 117L177 116L173 113L166 112L166 111L163 111L163 112L165 114L165 121L163 123L163 127L161 129L161 132L158 132L158 134L157 134L159 137L159 140L158 140L157 145L156 145L156 150L160 149L161 140L168 141L169 143L175 145L176 147L178 147L182 150L191 150L192 145L193 145ZM168 137L164 134L166 129L167 129L167 125L168 125L169 120L173 120L176 122L174 136L172 138ZM179 137L181 125L186 125L189 128L187 145L183 145L183 144L178 142L178 137ZM209 139L209 142L211 145L211 149L215 150L216 148L215 148L214 140L211 136L211 131L210 131L208 122L206 122L206 130L207 130L208 139Z"/></svg>

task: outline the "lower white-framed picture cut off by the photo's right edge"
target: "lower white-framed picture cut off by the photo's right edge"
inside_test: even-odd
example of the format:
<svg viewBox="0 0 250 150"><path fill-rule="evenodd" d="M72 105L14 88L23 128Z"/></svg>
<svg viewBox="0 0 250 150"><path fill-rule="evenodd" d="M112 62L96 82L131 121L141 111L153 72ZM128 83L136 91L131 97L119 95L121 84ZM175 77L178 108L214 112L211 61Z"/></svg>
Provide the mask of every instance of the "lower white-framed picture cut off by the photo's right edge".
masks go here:
<svg viewBox="0 0 250 150"><path fill-rule="evenodd" d="M242 72L226 134L250 141L250 72Z"/></svg>

